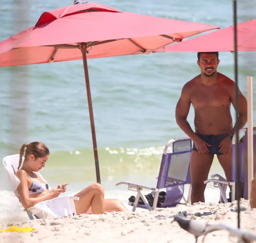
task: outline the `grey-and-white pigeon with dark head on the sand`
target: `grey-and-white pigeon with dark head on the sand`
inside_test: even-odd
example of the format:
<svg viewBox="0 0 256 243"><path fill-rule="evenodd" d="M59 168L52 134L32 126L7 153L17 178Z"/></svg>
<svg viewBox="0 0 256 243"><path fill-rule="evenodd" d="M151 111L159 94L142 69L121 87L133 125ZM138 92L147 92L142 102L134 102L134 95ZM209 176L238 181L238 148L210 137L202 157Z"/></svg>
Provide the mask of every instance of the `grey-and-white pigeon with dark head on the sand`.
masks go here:
<svg viewBox="0 0 256 243"><path fill-rule="evenodd" d="M177 215L173 217L172 222L177 222L183 230L188 231L190 234L193 234L196 238L196 242L199 236L204 236L203 241L208 233L215 230L222 230L223 228L219 225L206 224L205 222L198 222L197 220L185 220ZM195 243L196 243L195 242Z"/></svg>

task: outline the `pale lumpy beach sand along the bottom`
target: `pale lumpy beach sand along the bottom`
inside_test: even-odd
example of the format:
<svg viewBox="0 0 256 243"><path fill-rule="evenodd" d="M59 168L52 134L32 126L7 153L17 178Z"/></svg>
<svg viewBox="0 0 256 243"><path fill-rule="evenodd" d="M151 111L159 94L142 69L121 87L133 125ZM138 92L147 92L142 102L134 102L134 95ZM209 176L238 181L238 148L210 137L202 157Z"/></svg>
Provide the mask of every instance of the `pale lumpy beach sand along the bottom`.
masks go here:
<svg viewBox="0 0 256 243"><path fill-rule="evenodd" d="M250 208L248 200L241 200L241 229L256 234L256 209ZM181 215L186 219L200 220L209 224L226 224L237 227L237 202L226 204L196 203L178 205L169 209L154 211L139 210L136 212L111 212L102 215L75 215L60 217L54 220L30 220L0 225L0 229L11 225L32 227L36 230L29 233L2 232L1 243L64 243L64 242L139 242L139 243L189 243L195 242L194 236L181 229L173 222L171 215ZM202 242L203 237L198 238ZM237 242L228 237L227 230L209 233L205 242Z"/></svg>

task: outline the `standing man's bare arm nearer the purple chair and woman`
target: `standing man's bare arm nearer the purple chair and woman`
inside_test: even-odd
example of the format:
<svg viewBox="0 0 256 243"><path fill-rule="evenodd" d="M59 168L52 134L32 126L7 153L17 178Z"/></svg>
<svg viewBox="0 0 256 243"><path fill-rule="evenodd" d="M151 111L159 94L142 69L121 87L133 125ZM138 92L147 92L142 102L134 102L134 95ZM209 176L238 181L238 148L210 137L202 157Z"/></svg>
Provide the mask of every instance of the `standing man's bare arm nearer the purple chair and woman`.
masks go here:
<svg viewBox="0 0 256 243"><path fill-rule="evenodd" d="M181 96L176 105L175 117L179 128L181 128L192 141L195 141L198 139L198 136L194 133L187 120L190 105L190 92L188 90L188 83L186 83L181 90Z"/></svg>

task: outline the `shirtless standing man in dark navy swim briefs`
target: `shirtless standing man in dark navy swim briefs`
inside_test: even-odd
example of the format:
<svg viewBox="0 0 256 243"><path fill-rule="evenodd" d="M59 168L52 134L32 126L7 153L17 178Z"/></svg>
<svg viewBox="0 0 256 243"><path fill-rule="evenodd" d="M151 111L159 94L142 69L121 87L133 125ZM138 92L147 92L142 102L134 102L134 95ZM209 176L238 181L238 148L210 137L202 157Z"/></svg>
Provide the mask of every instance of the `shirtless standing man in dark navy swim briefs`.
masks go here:
<svg viewBox="0 0 256 243"><path fill-rule="evenodd" d="M217 155L226 179L231 180L233 127L230 105L235 104L235 82L217 72L218 52L198 53L197 64L201 74L187 82L176 106L178 126L194 142L190 173L192 179L191 203L205 202L204 191L214 154ZM239 129L247 122L247 100L238 90ZM190 104L194 107L195 132L187 121Z"/></svg>

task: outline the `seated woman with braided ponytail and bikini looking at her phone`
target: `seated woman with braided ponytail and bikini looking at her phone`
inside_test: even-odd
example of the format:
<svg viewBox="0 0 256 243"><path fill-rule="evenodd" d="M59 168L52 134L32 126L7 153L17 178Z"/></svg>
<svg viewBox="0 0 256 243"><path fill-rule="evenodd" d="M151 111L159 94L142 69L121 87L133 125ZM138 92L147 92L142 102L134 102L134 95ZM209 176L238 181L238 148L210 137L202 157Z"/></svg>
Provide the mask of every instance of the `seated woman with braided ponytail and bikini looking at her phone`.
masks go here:
<svg viewBox="0 0 256 243"><path fill-rule="evenodd" d="M21 166L25 148L25 159ZM20 180L17 190L21 204L25 209L42 201L56 198L60 193L66 192L66 187L62 188L64 184L48 190L49 185L37 173L45 167L48 158L49 149L41 142L23 144L20 149L19 167L15 175ZM93 183L75 194L74 196L79 197L79 200L74 200L76 212L101 214L111 211L128 211L121 201L104 199L104 193L102 185Z"/></svg>

